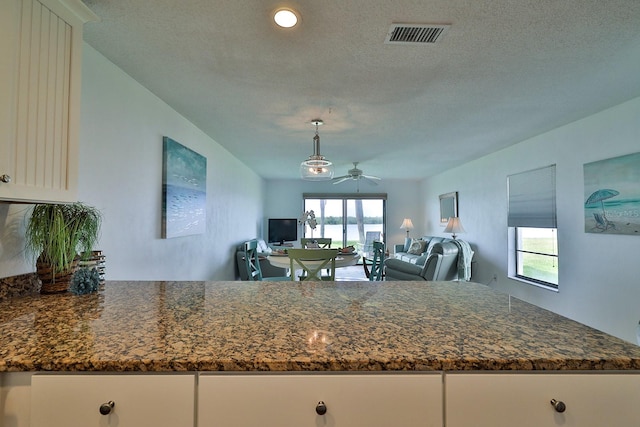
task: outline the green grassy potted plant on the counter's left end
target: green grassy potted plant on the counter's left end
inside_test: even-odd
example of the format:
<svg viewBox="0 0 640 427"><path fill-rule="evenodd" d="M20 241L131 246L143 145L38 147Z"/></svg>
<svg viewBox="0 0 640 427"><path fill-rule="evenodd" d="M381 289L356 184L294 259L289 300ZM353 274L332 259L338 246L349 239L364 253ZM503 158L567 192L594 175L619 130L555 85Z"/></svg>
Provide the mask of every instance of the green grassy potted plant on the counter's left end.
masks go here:
<svg viewBox="0 0 640 427"><path fill-rule="evenodd" d="M37 204L27 219L27 250L37 257L42 293L64 292L75 272L78 253L91 255L102 215L83 203Z"/></svg>

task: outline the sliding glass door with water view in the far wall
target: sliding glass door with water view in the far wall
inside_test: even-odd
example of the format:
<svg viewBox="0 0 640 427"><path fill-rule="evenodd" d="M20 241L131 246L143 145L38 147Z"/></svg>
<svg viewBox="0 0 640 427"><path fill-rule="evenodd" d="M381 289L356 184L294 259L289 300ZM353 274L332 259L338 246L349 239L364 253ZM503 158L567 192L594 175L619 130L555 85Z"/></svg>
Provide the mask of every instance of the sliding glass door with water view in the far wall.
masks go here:
<svg viewBox="0 0 640 427"><path fill-rule="evenodd" d="M304 229L304 237L329 237L331 247L354 246L369 252L373 240L383 240L386 194L304 194L304 210L313 210L318 225Z"/></svg>

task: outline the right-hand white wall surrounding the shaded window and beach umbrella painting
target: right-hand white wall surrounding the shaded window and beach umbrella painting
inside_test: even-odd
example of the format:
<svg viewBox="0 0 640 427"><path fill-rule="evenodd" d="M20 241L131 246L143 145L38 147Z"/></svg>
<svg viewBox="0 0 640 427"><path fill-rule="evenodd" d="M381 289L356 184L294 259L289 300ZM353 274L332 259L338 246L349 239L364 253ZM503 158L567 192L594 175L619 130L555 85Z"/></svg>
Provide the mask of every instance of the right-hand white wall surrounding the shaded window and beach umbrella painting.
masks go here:
<svg viewBox="0 0 640 427"><path fill-rule="evenodd" d="M459 192L462 239L476 250L473 280L636 341L640 236L584 232L583 164L640 151L640 98L467 163L422 183L434 234L438 195ZM507 278L507 175L556 164L559 292ZM638 183L640 185L640 183Z"/></svg>

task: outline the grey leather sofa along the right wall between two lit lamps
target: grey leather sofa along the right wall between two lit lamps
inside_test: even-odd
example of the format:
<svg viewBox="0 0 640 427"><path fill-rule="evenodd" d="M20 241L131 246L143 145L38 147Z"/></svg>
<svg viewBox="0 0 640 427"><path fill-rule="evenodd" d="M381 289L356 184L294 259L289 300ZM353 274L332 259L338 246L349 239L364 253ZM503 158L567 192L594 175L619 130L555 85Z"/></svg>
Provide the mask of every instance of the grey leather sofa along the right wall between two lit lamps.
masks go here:
<svg viewBox="0 0 640 427"><path fill-rule="evenodd" d="M468 243L444 237L423 236L395 245L385 265L385 280L469 280L471 251Z"/></svg>

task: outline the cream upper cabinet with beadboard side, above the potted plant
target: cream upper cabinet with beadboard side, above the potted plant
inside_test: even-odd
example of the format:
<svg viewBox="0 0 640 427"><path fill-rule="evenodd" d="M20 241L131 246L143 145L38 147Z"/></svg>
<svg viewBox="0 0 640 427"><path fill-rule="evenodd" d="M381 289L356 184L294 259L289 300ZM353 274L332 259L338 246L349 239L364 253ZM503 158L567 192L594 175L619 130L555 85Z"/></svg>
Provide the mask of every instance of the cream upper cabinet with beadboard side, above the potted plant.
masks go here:
<svg viewBox="0 0 640 427"><path fill-rule="evenodd" d="M78 180L80 0L0 2L0 200L74 201Z"/></svg>

